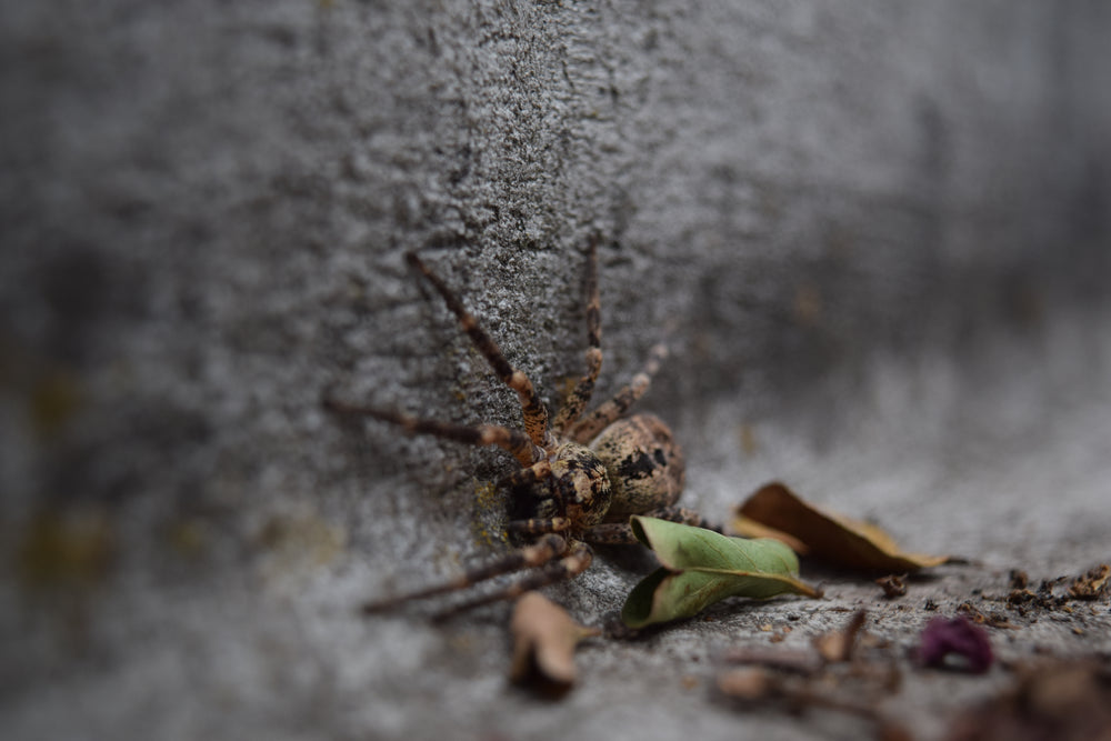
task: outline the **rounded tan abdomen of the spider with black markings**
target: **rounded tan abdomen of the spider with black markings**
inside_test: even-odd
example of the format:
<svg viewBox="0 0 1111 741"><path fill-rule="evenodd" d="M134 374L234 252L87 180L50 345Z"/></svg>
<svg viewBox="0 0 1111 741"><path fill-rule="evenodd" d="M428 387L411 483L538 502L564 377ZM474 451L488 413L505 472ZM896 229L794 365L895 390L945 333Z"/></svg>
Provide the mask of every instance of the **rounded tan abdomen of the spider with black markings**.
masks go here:
<svg viewBox="0 0 1111 741"><path fill-rule="evenodd" d="M590 449L605 467L613 492L608 521L623 521L679 500L687 462L671 430L658 417L618 420L594 438Z"/></svg>

